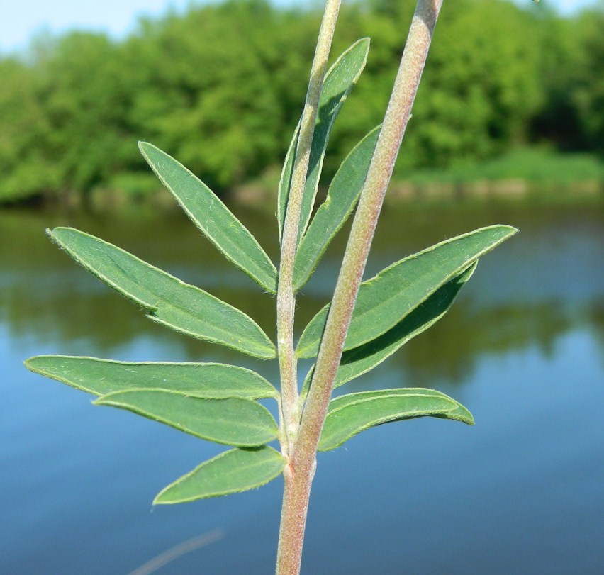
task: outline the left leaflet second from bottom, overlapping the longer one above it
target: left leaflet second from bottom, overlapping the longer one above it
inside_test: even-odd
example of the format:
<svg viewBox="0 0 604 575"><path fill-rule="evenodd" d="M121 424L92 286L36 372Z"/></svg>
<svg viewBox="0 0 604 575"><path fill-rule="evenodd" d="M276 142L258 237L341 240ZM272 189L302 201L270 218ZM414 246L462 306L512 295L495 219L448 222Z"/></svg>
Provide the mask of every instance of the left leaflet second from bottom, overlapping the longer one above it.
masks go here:
<svg viewBox="0 0 604 575"><path fill-rule="evenodd" d="M227 445L263 445L276 439L279 432L267 408L250 399L206 399L178 391L137 389L108 393L93 403L127 409L201 439Z"/></svg>

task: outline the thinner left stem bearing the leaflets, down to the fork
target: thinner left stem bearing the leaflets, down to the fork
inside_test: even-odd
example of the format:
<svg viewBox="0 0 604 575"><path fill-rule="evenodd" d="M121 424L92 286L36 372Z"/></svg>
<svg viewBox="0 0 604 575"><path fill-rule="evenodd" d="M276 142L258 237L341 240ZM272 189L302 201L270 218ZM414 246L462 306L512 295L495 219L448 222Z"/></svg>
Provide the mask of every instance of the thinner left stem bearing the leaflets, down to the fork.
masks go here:
<svg viewBox="0 0 604 575"><path fill-rule="evenodd" d="M281 262L279 264L276 311L281 376L281 428L284 430L283 437L281 437L281 449L285 456L291 451L291 445L295 440L300 422L296 355L293 349L293 316L296 306L296 294L293 291L293 262L298 247L300 213L319 99L325 72L327 72L329 52L339 11L340 0L327 1L300 122L296 160L293 164L283 235L281 236Z"/></svg>

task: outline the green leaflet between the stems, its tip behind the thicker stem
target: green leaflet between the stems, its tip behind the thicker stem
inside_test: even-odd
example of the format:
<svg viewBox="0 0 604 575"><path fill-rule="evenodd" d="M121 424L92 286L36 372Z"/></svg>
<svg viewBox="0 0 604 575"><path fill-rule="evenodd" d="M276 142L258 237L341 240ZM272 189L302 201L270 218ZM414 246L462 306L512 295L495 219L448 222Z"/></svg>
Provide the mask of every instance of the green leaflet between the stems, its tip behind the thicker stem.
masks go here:
<svg viewBox="0 0 604 575"><path fill-rule="evenodd" d="M313 274L319 259L357 204L374 155L377 126L347 155L330 184L328 195L304 234L293 268L293 286L300 289Z"/></svg>

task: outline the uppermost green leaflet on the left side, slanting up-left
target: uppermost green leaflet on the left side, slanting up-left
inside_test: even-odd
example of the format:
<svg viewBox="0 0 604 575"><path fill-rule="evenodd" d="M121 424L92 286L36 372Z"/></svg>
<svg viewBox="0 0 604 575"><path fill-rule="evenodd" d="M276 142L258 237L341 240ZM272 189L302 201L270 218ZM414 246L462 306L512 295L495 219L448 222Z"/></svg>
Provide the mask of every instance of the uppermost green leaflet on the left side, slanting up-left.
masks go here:
<svg viewBox="0 0 604 575"><path fill-rule="evenodd" d="M256 238L225 204L182 164L159 148L139 142L140 152L194 224L225 257L267 291L276 292L276 269Z"/></svg>

